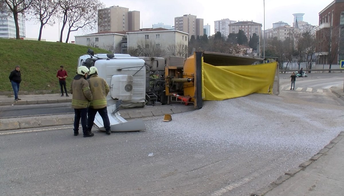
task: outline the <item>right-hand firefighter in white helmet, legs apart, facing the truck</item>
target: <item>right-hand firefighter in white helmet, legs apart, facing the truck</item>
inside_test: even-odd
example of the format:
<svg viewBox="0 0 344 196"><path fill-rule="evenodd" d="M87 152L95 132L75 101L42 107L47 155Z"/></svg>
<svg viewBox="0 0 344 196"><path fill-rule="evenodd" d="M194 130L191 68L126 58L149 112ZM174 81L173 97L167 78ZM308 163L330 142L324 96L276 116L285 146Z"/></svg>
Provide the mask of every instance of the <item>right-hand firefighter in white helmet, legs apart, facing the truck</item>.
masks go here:
<svg viewBox="0 0 344 196"><path fill-rule="evenodd" d="M89 79L87 79L87 81L92 92L93 101L90 102L88 107L87 128L89 133L92 133L91 130L94 123L94 118L98 112L103 119L106 134L110 135L111 128L106 107L106 96L110 91L110 87L103 78L98 77L98 70L95 66L90 67L89 70Z"/></svg>

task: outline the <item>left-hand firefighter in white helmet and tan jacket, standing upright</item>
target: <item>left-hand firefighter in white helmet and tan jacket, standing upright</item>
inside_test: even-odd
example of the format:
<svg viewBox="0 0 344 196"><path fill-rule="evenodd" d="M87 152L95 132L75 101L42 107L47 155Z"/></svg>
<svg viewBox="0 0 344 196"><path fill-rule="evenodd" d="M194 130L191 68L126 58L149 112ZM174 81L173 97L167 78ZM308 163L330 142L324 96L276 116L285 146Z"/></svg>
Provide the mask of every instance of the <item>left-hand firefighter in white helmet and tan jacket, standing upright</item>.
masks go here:
<svg viewBox="0 0 344 196"><path fill-rule="evenodd" d="M74 108L74 135L79 134L79 122L83 127L84 137L92 137L93 133L87 130L87 108L89 102L93 100L91 90L86 80L89 69L86 66L79 66L77 75L74 77L69 88L72 97L72 108Z"/></svg>

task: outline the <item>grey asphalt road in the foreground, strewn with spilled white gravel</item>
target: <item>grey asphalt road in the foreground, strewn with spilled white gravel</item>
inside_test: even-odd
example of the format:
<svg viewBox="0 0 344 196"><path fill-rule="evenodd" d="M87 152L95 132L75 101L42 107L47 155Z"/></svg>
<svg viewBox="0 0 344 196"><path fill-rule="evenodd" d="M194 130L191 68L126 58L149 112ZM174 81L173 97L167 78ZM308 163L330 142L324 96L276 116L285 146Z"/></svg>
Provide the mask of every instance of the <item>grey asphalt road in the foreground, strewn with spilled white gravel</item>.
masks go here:
<svg viewBox="0 0 344 196"><path fill-rule="evenodd" d="M1 132L0 195L248 196L344 128L342 100L283 93L206 101L171 122L147 119L144 132Z"/></svg>

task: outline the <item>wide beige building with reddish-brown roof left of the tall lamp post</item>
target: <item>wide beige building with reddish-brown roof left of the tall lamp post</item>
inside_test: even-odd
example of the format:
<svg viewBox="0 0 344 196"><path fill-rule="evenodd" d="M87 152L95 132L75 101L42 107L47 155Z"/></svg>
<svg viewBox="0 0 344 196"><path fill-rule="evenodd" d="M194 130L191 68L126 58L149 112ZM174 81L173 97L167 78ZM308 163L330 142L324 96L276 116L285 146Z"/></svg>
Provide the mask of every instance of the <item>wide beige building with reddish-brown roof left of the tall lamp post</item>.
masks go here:
<svg viewBox="0 0 344 196"><path fill-rule="evenodd" d="M238 33L239 30L244 31L247 40L249 41L253 33L256 33L259 37L261 36L261 23L253 21L239 21L232 24L228 24L229 33Z"/></svg>

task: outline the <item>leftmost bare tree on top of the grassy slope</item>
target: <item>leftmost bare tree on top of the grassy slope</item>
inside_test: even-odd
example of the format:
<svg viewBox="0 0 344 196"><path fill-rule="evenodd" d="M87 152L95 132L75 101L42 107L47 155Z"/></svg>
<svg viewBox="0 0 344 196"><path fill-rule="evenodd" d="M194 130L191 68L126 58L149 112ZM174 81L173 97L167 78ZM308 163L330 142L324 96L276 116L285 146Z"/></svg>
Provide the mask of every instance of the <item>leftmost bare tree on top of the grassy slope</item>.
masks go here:
<svg viewBox="0 0 344 196"><path fill-rule="evenodd" d="M3 0L9 10L13 14L14 24L15 24L15 38L20 39L19 35L19 23L18 23L18 14L21 14L24 17L24 13L27 9L30 8L33 0Z"/></svg>

